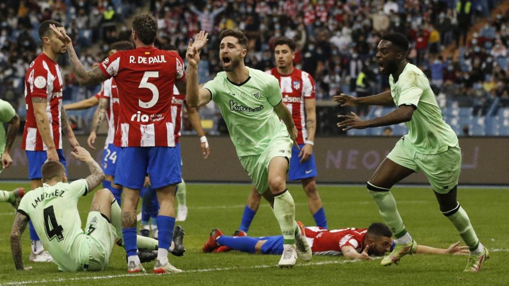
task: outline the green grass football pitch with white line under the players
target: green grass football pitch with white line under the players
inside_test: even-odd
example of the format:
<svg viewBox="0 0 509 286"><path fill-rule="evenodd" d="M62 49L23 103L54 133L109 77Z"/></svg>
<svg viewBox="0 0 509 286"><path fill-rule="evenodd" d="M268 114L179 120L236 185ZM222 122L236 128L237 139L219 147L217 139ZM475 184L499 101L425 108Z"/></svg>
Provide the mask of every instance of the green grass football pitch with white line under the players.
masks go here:
<svg viewBox="0 0 509 286"><path fill-rule="evenodd" d="M29 184L0 183L0 189ZM314 225L304 191L289 185L296 203L296 218ZM115 246L109 266L103 272L62 273L52 263L28 261L28 230L23 234L23 258L32 271L15 271L9 234L14 211L2 204L0 211L0 285L507 285L509 284L509 239L507 235L509 188L460 188L458 199L468 212L480 241L489 248L490 259L477 274L464 273L466 255L418 254L406 256L399 265L380 266L380 260L347 261L342 256L314 256L309 263L299 261L294 269L279 269L278 255L253 255L240 252L202 253L212 228L225 235L237 230L249 185L187 185L187 220L180 222L186 236L186 254L170 255L170 262L183 269L180 274L152 274L152 263L144 264L148 274L128 275L124 249ZM367 227L381 221L373 199L364 187L320 186L329 228ZM430 188L393 188L407 230L419 244L446 248L460 240L453 225L439 212ZM80 199L84 219L92 195ZM280 234L278 224L263 202L249 231L250 236Z"/></svg>

